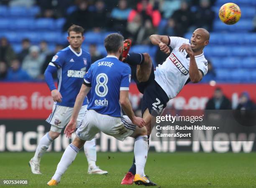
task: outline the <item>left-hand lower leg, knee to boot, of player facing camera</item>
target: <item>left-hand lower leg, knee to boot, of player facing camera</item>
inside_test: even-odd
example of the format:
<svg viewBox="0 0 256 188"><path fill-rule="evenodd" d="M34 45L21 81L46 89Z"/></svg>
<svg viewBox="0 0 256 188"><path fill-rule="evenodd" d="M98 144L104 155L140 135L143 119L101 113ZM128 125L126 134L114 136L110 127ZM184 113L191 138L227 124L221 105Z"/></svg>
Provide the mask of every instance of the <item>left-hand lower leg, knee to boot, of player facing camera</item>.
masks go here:
<svg viewBox="0 0 256 188"><path fill-rule="evenodd" d="M60 133L50 130L46 135L44 135L36 148L35 155L29 161L31 167L31 172L33 174L41 174L40 172L40 160L44 155L46 150L49 148L49 145L59 136Z"/></svg>

